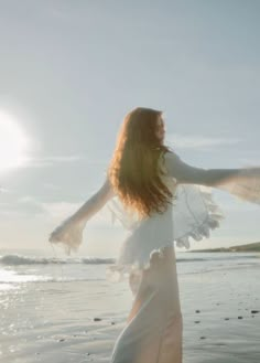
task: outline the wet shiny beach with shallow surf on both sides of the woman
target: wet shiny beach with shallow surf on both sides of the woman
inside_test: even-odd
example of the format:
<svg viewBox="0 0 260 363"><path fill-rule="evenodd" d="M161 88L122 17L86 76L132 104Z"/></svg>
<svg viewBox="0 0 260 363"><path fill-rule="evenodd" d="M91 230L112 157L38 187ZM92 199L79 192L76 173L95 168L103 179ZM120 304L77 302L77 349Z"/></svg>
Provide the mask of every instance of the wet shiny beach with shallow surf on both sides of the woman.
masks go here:
<svg viewBox="0 0 260 363"><path fill-rule="evenodd" d="M24 256L0 257L0 361L110 362L131 308L127 281L107 281L100 259ZM259 363L260 254L176 257L183 363Z"/></svg>

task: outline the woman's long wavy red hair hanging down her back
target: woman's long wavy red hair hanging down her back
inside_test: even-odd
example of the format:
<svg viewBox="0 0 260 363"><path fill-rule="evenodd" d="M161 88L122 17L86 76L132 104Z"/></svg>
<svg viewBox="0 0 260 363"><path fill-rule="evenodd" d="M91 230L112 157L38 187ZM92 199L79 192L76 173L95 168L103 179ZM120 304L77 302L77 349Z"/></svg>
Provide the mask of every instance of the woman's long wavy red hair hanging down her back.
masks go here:
<svg viewBox="0 0 260 363"><path fill-rule="evenodd" d="M131 110L123 119L108 168L117 195L141 217L153 211L163 213L173 196L160 178L159 158L170 151L155 135L161 116L162 111L151 108Z"/></svg>

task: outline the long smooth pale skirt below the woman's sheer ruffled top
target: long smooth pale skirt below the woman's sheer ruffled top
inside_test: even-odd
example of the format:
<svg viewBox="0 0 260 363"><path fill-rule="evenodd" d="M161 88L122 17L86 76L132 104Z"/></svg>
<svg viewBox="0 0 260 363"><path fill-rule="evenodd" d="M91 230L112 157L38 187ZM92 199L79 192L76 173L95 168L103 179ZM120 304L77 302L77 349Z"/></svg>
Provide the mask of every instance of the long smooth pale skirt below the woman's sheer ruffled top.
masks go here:
<svg viewBox="0 0 260 363"><path fill-rule="evenodd" d="M132 308L111 363L182 363L183 318L174 246L153 252L151 266L130 276Z"/></svg>

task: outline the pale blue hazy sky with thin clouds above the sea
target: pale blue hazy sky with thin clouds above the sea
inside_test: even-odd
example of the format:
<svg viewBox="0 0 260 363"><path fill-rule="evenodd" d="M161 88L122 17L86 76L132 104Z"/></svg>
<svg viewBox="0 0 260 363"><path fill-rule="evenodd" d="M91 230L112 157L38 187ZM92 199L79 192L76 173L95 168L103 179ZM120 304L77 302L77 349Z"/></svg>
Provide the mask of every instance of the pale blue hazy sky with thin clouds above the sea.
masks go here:
<svg viewBox="0 0 260 363"><path fill-rule="evenodd" d="M0 0L0 248L53 254L50 233L100 188L137 106L164 111L165 143L191 166L259 166L259 11L258 0ZM213 193L226 217L192 248L259 242L259 205ZM115 257L124 237L98 213L78 255Z"/></svg>

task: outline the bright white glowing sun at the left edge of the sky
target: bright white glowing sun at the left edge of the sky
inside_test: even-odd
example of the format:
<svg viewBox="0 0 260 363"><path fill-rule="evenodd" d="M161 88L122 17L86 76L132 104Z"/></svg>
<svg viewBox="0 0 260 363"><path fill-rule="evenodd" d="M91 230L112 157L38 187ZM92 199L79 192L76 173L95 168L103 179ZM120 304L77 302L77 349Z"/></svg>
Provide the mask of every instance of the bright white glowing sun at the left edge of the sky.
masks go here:
<svg viewBox="0 0 260 363"><path fill-rule="evenodd" d="M0 172L24 167L30 140L15 118L0 110Z"/></svg>

